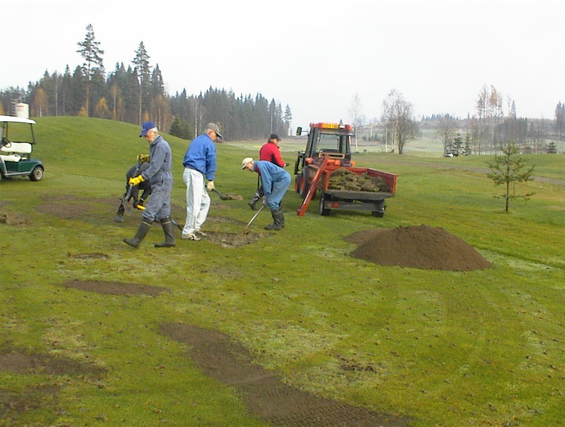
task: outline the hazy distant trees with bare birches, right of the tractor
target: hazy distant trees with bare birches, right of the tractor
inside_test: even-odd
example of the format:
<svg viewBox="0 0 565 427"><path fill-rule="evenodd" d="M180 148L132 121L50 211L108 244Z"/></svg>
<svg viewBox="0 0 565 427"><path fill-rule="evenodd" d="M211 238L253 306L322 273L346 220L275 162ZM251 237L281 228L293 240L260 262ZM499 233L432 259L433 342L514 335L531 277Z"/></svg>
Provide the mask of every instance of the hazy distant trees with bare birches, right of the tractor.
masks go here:
<svg viewBox="0 0 565 427"><path fill-rule="evenodd" d="M521 153L557 153L556 142L565 140L565 104L557 104L554 120L517 117L516 104L510 98L506 99L505 114L503 104L501 93L493 86L483 86L475 102L475 115L462 119L433 114L418 122L412 104L392 90L383 101L380 121L365 126L358 123L357 127L365 134L364 140L380 140L386 152L398 150L399 154L408 140L417 138L425 128L436 130L444 150L456 148L464 155L497 154L501 143L512 143Z"/></svg>

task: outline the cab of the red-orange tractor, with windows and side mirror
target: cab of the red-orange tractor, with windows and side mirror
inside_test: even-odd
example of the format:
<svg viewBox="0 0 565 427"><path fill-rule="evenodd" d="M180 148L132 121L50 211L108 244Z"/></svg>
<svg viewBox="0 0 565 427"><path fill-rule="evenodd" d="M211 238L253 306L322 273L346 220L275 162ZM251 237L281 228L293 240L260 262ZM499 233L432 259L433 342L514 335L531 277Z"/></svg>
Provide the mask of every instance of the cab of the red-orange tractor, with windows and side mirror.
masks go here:
<svg viewBox="0 0 565 427"><path fill-rule="evenodd" d="M296 134L302 135L302 127L298 127ZM328 157L332 165L354 166L351 161L351 137L354 136L351 125L311 123L306 149L298 152L294 174L300 174L309 164L320 165L324 157Z"/></svg>

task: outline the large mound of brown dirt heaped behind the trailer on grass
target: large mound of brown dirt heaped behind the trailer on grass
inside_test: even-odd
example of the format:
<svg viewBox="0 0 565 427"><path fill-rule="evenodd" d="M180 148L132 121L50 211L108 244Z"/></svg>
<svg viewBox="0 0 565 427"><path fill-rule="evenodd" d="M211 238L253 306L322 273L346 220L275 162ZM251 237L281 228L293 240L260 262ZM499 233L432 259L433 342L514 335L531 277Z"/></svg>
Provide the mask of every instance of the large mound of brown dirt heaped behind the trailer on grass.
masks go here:
<svg viewBox="0 0 565 427"><path fill-rule="evenodd" d="M441 227L359 231L346 241L358 244L351 256L380 265L451 271L492 266L475 248Z"/></svg>

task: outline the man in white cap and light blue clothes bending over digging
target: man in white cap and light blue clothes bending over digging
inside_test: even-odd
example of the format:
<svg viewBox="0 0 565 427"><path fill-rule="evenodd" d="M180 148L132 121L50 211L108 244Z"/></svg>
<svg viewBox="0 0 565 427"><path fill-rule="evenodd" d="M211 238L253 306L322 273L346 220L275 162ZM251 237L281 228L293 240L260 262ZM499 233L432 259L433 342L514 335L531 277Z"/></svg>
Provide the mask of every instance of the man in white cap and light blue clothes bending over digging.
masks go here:
<svg viewBox="0 0 565 427"><path fill-rule="evenodd" d="M285 195L290 185L289 173L280 166L267 160L253 160L245 157L241 162L241 169L257 172L261 175L263 183L263 206L269 206L273 223L265 226L265 230L280 230L284 227L284 213L281 209L282 196Z"/></svg>

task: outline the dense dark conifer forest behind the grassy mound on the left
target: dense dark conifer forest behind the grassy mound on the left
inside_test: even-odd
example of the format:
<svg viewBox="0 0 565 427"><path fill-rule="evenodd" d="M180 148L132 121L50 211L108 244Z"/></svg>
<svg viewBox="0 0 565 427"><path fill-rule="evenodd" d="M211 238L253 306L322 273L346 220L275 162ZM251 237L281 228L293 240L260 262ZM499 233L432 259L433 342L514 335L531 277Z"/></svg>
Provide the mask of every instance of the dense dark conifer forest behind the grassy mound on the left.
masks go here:
<svg viewBox="0 0 565 427"><path fill-rule="evenodd" d="M220 126L224 139L265 139L271 133L288 135L292 112L275 99L212 88L189 95L183 89L171 96L164 89L159 64L150 64L144 43L131 63L116 63L106 75L104 51L95 40L92 25L86 27L84 41L77 43L84 59L72 72L45 71L41 80L29 82L27 89L0 90L0 114L14 113L15 104L29 104L32 117L84 116L107 118L133 124L153 121L160 130L192 139L208 122Z"/></svg>

